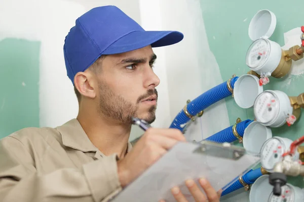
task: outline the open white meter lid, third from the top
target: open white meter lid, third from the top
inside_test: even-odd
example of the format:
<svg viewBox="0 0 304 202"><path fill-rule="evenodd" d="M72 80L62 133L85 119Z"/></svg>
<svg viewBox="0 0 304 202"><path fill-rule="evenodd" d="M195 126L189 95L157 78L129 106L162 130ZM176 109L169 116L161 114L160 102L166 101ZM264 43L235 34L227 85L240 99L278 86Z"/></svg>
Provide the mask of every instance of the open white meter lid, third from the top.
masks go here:
<svg viewBox="0 0 304 202"><path fill-rule="evenodd" d="M259 154L264 142L270 138L272 138L271 129L257 121L253 121L244 131L243 146L247 151Z"/></svg>

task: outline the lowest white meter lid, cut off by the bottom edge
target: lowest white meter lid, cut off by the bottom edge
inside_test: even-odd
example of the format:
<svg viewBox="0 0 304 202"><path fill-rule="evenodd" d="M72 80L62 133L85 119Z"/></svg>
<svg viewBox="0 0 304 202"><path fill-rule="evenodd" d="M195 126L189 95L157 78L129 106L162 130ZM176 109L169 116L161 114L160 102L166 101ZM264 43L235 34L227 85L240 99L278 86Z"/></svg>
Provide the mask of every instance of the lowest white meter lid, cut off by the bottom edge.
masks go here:
<svg viewBox="0 0 304 202"><path fill-rule="evenodd" d="M269 175L262 175L255 180L249 193L250 202L268 201L273 191L273 186L269 183Z"/></svg>

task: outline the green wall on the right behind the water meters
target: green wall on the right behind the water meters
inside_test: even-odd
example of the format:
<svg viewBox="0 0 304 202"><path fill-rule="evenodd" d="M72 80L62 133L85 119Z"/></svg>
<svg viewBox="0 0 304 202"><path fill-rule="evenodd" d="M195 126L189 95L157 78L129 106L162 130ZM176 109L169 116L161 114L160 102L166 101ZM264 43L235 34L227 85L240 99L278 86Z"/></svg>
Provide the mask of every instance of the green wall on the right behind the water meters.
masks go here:
<svg viewBox="0 0 304 202"><path fill-rule="evenodd" d="M225 81L233 74L241 76L250 70L245 63L247 49L252 43L248 36L248 27L257 11L268 9L276 15L277 27L270 40L283 46L285 44L284 32L304 25L302 6L303 1L300 0L294 0L291 4L282 0L201 0L209 46L219 65L222 79ZM264 86L264 90L281 90L289 96L297 96L304 92L304 76L292 77L290 85L286 85L286 79L287 77L281 79L272 77L270 83ZM226 99L226 106L231 125L236 122L238 117L242 120L254 119L253 109L241 109L232 97ZM301 111L301 118L293 126L284 125L280 128L272 128L273 136L294 140L304 135L303 116L304 110ZM288 182L304 187L302 177L290 177Z"/></svg>

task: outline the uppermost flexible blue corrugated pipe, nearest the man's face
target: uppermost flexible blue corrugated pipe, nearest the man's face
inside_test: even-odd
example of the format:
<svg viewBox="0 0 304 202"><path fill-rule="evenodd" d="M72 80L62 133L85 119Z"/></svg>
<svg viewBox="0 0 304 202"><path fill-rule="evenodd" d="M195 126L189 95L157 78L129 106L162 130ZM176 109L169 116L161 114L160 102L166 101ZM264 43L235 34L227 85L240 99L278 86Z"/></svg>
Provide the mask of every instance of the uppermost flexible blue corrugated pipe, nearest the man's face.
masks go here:
<svg viewBox="0 0 304 202"><path fill-rule="evenodd" d="M234 84L238 78L239 77L234 77L231 79L230 85L232 88L234 88ZM192 102L187 105L187 111L192 116L196 116L202 110L230 95L232 95L232 93L227 88L227 82L223 82L192 100ZM169 128L176 128L183 132L183 128L189 120L190 118L185 115L182 109L174 118Z"/></svg>

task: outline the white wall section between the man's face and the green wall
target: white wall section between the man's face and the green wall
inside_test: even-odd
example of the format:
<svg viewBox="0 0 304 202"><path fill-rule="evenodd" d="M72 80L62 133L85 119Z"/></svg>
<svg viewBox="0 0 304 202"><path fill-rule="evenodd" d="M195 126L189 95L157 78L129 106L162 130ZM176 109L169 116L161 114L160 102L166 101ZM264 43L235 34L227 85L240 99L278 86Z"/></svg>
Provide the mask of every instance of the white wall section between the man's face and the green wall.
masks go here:
<svg viewBox="0 0 304 202"><path fill-rule="evenodd" d="M167 90L165 98L169 98L169 102L160 100L159 108L166 109L160 112L170 114L157 114L157 119L162 117L163 120L155 125L168 127L187 99L193 100L223 81L209 48L200 1L179 0L177 3L174 0L141 0L140 5L142 26L145 29L178 30L184 34L184 39L177 44L155 48L155 52L160 54L156 69L161 69L157 70L163 77L161 83L167 83L167 87L163 85L159 89ZM182 82L177 82L179 79ZM222 101L206 110L204 116L193 123L185 135L189 140L201 140L202 136L206 138L228 126L229 118Z"/></svg>

